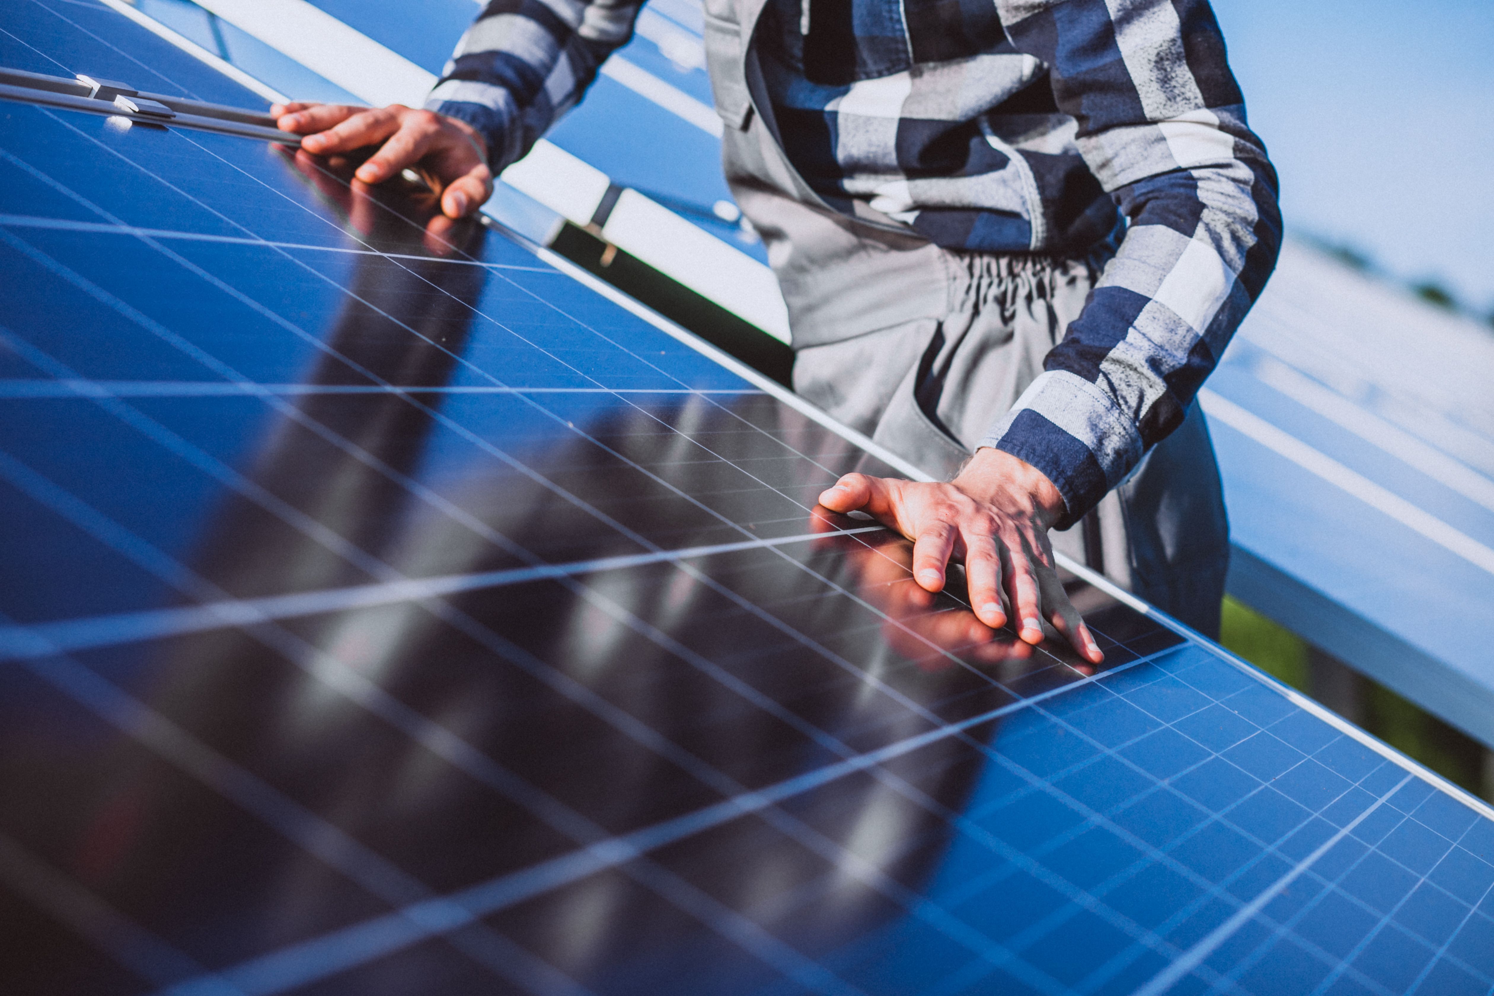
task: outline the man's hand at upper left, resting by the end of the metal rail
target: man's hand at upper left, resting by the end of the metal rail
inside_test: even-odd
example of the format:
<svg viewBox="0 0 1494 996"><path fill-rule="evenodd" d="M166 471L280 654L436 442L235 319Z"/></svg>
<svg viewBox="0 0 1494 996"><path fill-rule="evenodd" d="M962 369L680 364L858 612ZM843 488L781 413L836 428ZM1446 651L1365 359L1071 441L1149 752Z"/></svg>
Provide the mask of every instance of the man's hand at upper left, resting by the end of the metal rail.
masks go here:
<svg viewBox="0 0 1494 996"><path fill-rule="evenodd" d="M487 143L465 121L403 105L368 109L327 103L288 103L270 108L281 131L303 136L300 148L312 155L335 155L371 145L382 146L356 176L378 184L415 167L441 196L441 211L462 218L493 194Z"/></svg>

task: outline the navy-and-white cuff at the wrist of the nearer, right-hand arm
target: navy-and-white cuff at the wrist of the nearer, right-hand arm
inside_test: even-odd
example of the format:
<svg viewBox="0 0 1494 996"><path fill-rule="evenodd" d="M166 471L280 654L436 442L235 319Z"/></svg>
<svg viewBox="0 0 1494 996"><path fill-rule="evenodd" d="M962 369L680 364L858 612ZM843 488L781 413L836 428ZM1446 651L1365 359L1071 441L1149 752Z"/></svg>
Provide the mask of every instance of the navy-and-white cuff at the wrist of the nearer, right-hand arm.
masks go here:
<svg viewBox="0 0 1494 996"><path fill-rule="evenodd" d="M980 441L1041 470L1064 497L1068 529L1141 460L1141 433L1115 400L1068 370L1041 373Z"/></svg>

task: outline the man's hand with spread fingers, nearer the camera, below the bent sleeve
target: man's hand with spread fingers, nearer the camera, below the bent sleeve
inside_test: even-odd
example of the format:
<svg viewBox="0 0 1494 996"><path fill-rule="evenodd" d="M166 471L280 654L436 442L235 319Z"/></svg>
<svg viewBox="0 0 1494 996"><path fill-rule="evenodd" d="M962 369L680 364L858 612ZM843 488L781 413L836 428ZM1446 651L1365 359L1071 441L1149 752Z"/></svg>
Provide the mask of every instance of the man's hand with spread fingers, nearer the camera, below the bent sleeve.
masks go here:
<svg viewBox="0 0 1494 996"><path fill-rule="evenodd" d="M986 626L1007 624L1004 590L1023 641L1041 642L1046 618L1082 657L1104 660L1053 567L1047 530L1064 499L1032 464L980 449L949 484L847 473L820 494L820 505L868 512L914 541L913 578L929 591L944 587L952 558L964 560L971 608Z"/></svg>

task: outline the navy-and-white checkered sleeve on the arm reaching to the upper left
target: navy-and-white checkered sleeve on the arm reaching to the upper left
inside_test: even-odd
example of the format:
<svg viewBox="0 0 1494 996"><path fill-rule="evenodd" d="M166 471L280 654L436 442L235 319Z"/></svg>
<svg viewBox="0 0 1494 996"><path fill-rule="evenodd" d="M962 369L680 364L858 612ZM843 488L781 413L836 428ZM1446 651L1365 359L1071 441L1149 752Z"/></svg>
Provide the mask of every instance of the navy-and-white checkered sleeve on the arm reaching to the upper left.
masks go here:
<svg viewBox="0 0 1494 996"><path fill-rule="evenodd" d="M632 37L642 0L492 0L457 42L426 109L487 139L498 172L521 158Z"/></svg>

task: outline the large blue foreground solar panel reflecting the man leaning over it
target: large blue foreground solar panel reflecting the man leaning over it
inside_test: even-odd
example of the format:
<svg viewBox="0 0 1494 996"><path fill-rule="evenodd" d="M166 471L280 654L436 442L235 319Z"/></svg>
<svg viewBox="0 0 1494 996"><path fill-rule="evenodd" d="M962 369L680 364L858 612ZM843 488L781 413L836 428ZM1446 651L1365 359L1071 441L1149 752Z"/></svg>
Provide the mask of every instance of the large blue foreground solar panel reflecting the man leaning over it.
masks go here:
<svg viewBox="0 0 1494 996"><path fill-rule="evenodd" d="M1494 986L1485 808L1079 576L1103 670L988 639L502 231L24 103L0 173L4 992Z"/></svg>

